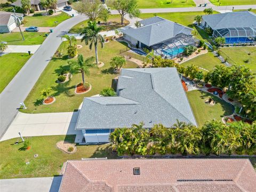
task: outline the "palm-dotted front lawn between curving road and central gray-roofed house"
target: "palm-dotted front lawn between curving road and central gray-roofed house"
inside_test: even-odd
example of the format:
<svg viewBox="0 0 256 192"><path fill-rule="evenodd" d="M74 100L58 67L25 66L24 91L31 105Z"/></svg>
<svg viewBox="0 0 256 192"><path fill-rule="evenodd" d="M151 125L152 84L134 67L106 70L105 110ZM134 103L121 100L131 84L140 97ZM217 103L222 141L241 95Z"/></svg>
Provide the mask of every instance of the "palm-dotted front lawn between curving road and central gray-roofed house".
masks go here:
<svg viewBox="0 0 256 192"><path fill-rule="evenodd" d="M65 43L61 44L60 49L63 48ZM83 45L82 49L78 49L78 53L83 54L84 57L94 56L94 49L90 51L88 46L80 41L78 41L77 44ZM92 95L99 94L102 89L111 86L112 79L118 76L118 74L113 74L112 71L109 70L109 62L110 59L117 55L119 50L124 47L123 44L113 41L106 43L103 49L98 50L99 60L104 62L105 66L90 70L91 74L89 77L85 77L85 81L91 83L92 90L85 94L75 94L74 92L75 85L82 81L81 74L74 74L69 82L63 84L56 83L58 71L60 71L61 68L68 69L68 59L67 55L64 55L63 59L53 58L25 100L28 109L21 111L25 113L49 113L73 111L77 109L84 97L91 97ZM135 68L137 65L128 62L125 67ZM52 95L57 99L52 105L42 105L40 92L47 87L52 87Z"/></svg>

